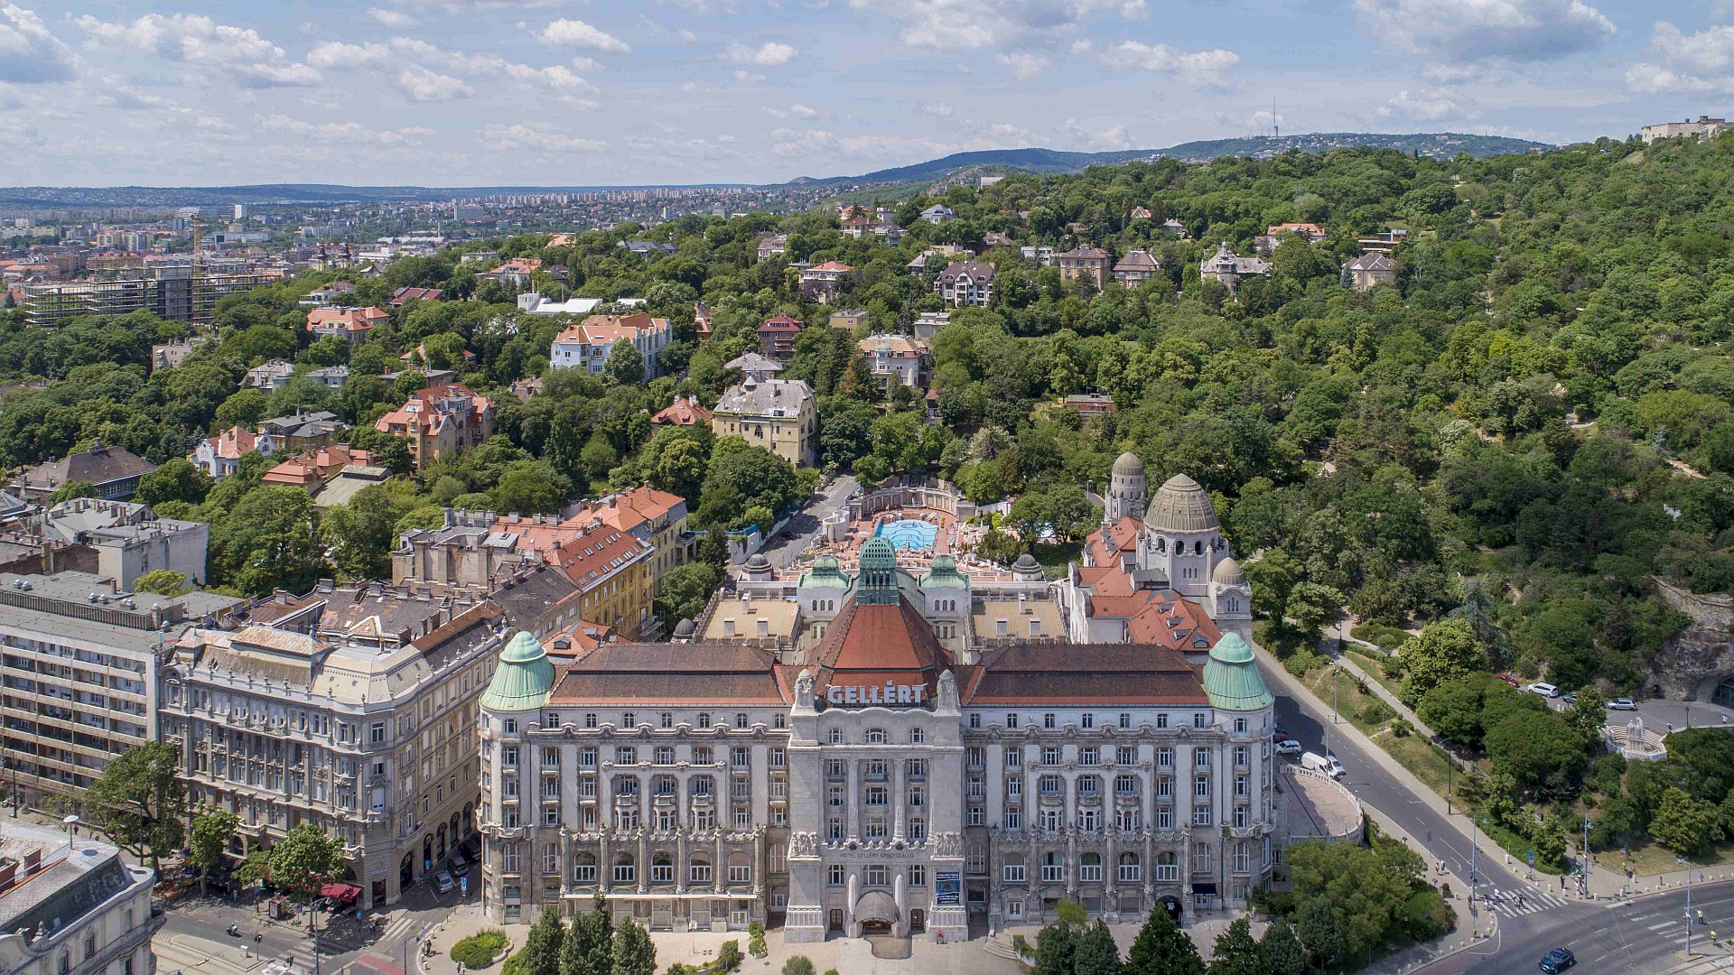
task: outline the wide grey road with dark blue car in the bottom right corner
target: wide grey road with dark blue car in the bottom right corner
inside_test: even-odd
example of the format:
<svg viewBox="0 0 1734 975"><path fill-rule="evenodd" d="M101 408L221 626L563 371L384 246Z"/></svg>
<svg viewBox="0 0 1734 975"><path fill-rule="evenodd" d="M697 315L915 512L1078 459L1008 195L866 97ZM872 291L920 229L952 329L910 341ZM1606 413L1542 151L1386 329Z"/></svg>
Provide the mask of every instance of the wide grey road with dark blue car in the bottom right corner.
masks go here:
<svg viewBox="0 0 1734 975"><path fill-rule="evenodd" d="M1727 961L1727 949L1710 946L1710 932L1727 942L1734 935L1734 883L1694 885L1692 958ZM1444 958L1418 975L1498 975L1500 968L1531 972L1555 947L1578 956L1578 972L1654 973L1687 965L1685 890L1670 890L1628 902L1571 904L1502 919L1498 937L1477 949Z"/></svg>

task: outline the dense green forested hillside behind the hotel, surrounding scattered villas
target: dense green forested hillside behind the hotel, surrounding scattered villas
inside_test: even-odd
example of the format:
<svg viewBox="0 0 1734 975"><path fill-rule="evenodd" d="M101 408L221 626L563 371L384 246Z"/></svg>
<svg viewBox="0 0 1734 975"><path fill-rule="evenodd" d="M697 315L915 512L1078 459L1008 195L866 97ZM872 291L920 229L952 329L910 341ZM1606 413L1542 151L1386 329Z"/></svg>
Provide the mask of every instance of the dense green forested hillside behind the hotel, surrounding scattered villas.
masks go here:
<svg viewBox="0 0 1734 975"><path fill-rule="evenodd" d="M678 378L640 383L635 363L603 378L555 371L520 402L506 385L546 370L562 323L520 314L512 293L477 283L486 265L442 252L359 279L355 304L385 305L402 285L468 300L397 309L354 352L309 344L297 307L338 272L227 300L220 342L154 376L149 342L182 326L128 317L42 331L10 321L0 370L47 387L7 396L0 458L36 463L101 437L165 461L208 430L307 406L336 409L407 472L371 422L418 378L392 389L371 376L409 354L460 370L501 404L494 442L369 489L317 526L305 503L257 486L258 465L215 488L170 465L173 477L156 477L146 498L212 520L213 581L255 592L331 571L326 548L336 571L376 574L399 522L451 503L555 510L649 479L688 496L697 526L730 527L796 498L792 472L713 444L707 430L652 435L649 415L676 392L713 401L730 382L723 363L787 311L808 323L789 375L820 394L827 465L864 481L936 472L981 501L1018 494L1023 520L1066 541L1096 517L1082 488L1105 482L1113 456L1132 449L1157 482L1198 479L1235 548L1259 555L1269 644L1304 645L1344 605L1363 621L1415 626L1457 611L1467 592L1493 666L1628 689L1682 625L1649 576L1696 592L1734 581L1734 363L1722 352L1734 312L1731 177L1734 141L1604 141L1455 161L1339 149L1016 175L948 191L959 219L943 226L916 219L935 200L888 201L910 227L898 248L841 236L832 210L683 217L558 248L546 238L477 243L468 246L569 267L574 295L647 298L676 323L664 364ZM1136 206L1153 219L1132 220ZM1164 236L1167 217L1190 238ZM1238 298L1200 281L1198 260L1217 241L1252 253L1252 238L1285 220L1316 222L1328 239L1283 239L1271 276L1248 278ZM1356 236L1392 227L1410 231L1394 253L1398 283L1347 290L1340 265L1361 253ZM773 229L792 234L789 253L758 262L756 239ZM931 281L943 260L922 274L905 264L928 245L980 245L990 231L1096 243L1115 257L1150 248L1167 276L1098 295L1016 248L988 248L994 307L957 311L935 338L938 425L924 423L919 390L879 394L860 335L803 305L784 264L857 267L844 304L867 309L874 330L898 330L940 309ZM617 246L626 238L673 241L678 253L635 255ZM704 344L692 328L701 298L714 311ZM269 396L236 392L269 357L303 370L347 363L361 378L335 394L307 378ZM1084 390L1111 394L1120 409L1080 422L1039 408Z"/></svg>

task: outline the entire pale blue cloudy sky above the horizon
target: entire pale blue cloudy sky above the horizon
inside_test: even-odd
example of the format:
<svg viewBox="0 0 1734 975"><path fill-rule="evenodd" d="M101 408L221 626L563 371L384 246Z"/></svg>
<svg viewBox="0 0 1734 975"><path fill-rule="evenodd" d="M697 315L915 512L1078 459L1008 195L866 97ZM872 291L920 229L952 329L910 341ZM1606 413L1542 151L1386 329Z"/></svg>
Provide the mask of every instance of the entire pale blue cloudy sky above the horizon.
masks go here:
<svg viewBox="0 0 1734 975"><path fill-rule="evenodd" d="M1734 0L0 2L10 184L645 184L1734 113ZM369 7L368 3L376 3Z"/></svg>

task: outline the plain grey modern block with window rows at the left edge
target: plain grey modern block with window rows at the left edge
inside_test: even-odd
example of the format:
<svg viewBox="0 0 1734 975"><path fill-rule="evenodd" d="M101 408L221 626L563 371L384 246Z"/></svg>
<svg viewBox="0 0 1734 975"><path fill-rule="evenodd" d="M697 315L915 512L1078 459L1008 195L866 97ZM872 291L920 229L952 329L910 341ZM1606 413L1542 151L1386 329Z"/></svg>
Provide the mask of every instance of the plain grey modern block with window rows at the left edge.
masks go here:
<svg viewBox="0 0 1734 975"><path fill-rule="evenodd" d="M132 595L104 576L0 574L0 746L26 805L76 796L154 737L156 661L239 600Z"/></svg>

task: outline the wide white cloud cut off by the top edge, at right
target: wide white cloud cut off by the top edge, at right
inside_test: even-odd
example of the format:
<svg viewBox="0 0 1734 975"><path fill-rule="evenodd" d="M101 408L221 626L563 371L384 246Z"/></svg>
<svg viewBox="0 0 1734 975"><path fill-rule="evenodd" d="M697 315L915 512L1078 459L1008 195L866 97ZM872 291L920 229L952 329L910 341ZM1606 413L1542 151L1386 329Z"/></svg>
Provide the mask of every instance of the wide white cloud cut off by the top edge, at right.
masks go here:
<svg viewBox="0 0 1734 975"><path fill-rule="evenodd" d="M1354 0L1354 9L1380 42L1448 64L1550 61L1614 33L1583 0Z"/></svg>

